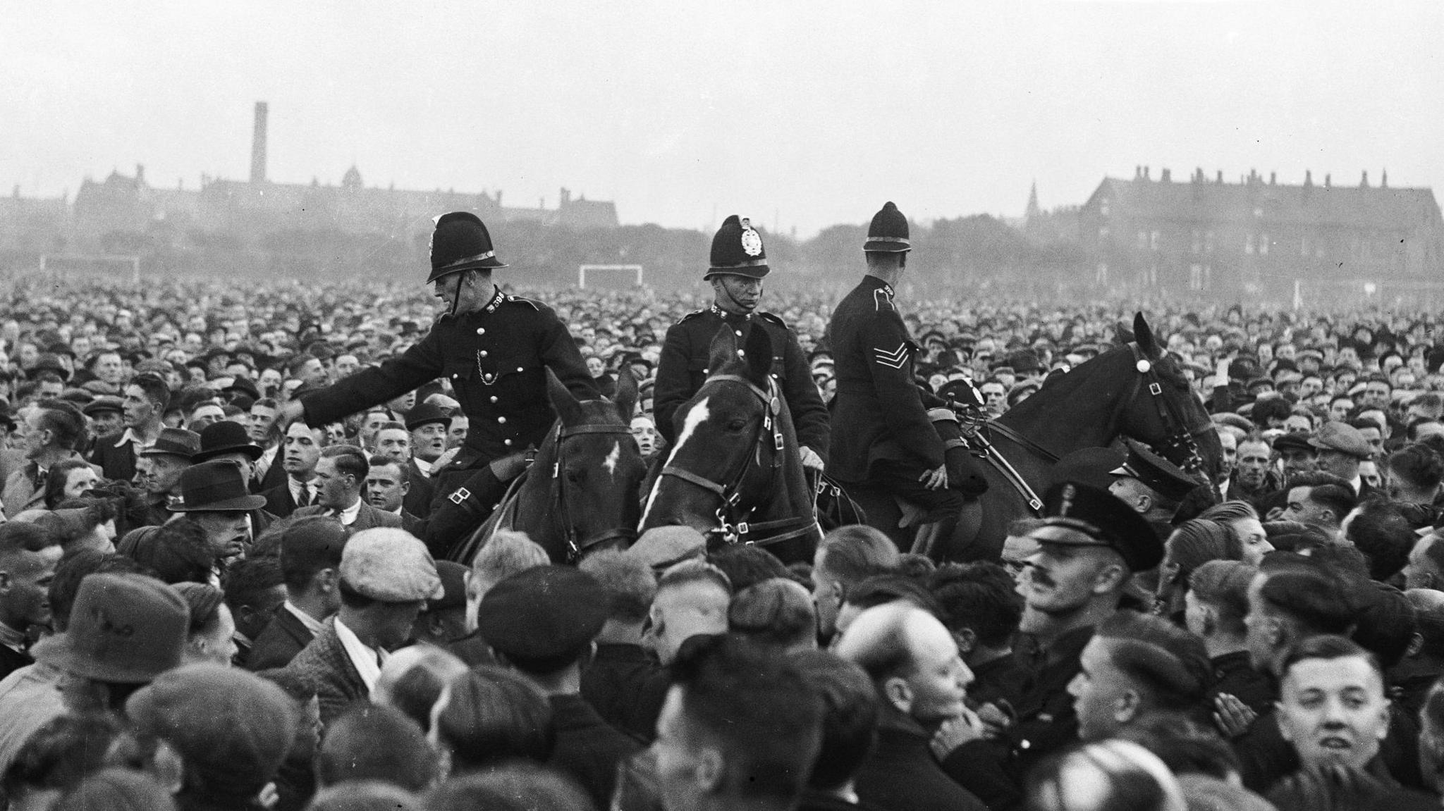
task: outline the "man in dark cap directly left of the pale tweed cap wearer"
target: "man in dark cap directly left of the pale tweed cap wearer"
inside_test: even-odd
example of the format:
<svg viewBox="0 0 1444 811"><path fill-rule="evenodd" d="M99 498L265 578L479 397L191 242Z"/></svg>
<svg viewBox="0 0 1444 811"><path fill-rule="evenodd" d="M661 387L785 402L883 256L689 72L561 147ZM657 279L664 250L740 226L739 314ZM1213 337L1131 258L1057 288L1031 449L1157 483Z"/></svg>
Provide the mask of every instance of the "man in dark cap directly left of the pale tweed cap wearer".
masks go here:
<svg viewBox="0 0 1444 811"><path fill-rule="evenodd" d="M351 531L329 518L303 518L280 537L286 602L256 636L245 668L286 667L341 610L341 550Z"/></svg>

